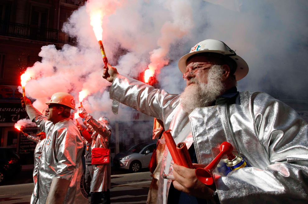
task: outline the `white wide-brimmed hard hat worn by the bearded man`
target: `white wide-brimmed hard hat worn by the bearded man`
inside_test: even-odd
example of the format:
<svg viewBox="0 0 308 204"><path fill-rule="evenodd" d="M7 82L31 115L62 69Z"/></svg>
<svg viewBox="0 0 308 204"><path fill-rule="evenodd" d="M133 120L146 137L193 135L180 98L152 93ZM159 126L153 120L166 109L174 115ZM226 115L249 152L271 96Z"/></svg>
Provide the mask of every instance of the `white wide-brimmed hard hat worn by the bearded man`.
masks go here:
<svg viewBox="0 0 308 204"><path fill-rule="evenodd" d="M231 50L224 42L207 39L196 44L193 48L191 48L188 54L181 57L178 66L183 74L186 72L188 58L201 52L214 52L225 56L224 59L232 59L232 62L234 61L236 64L236 67L234 67L236 69L234 75L236 76L237 81L243 79L248 73L249 69L247 63L240 56L236 55L236 53Z"/></svg>

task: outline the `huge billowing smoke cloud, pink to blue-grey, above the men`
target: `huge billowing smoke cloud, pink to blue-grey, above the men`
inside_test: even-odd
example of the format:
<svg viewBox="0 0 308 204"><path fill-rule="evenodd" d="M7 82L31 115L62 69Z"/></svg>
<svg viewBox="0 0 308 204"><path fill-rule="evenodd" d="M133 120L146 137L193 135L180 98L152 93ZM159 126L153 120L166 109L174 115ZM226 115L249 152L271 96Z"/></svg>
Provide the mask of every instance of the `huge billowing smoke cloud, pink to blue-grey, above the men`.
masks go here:
<svg viewBox="0 0 308 204"><path fill-rule="evenodd" d="M121 110L119 116L112 114L105 90L111 84L101 77L103 60L89 17L97 10L103 15L106 55L122 75L136 77L149 66L161 88L181 93L185 82L178 60L198 42L217 39L249 66L248 75L238 81L239 91L308 100L306 0L243 0L240 11L202 0L88 0L62 28L77 37L77 47L44 46L42 61L27 68L35 79L26 84L26 94L36 99L39 110L53 93L69 92L78 101L78 93L86 90L83 105L95 118L124 117Z"/></svg>

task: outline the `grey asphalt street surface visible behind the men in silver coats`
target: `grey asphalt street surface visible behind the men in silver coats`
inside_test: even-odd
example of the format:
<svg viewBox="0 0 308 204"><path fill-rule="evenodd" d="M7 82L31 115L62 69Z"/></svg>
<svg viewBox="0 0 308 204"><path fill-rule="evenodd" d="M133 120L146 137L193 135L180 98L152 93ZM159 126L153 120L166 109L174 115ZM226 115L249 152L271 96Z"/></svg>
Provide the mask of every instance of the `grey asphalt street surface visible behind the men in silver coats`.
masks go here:
<svg viewBox="0 0 308 204"><path fill-rule="evenodd" d="M151 173L147 168L142 169L139 173L114 169L111 172L111 203L146 203L152 180ZM34 188L31 175L31 170L22 170L14 179L0 185L1 204L28 204Z"/></svg>

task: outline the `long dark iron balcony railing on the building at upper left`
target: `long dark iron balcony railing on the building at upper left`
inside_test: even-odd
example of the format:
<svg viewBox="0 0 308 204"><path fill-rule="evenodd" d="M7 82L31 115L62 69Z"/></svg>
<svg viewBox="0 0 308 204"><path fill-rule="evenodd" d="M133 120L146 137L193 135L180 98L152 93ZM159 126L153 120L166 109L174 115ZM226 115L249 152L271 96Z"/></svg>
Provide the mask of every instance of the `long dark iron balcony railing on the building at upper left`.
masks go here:
<svg viewBox="0 0 308 204"><path fill-rule="evenodd" d="M58 30L0 21L0 35L58 43Z"/></svg>

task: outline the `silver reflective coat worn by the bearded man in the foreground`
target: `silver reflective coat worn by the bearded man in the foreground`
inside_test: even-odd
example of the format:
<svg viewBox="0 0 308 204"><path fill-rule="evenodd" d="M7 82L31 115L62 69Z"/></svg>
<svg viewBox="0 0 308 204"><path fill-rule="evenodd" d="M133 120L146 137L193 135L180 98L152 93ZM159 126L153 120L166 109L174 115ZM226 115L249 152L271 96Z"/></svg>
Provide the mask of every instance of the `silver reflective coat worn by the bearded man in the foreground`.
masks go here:
<svg viewBox="0 0 308 204"><path fill-rule="evenodd" d="M221 203L307 203L308 125L292 108L266 93L239 94L240 105L196 108L187 114L178 95L118 75L110 98L164 122L175 143L194 143L198 163L208 165L227 141L251 167L226 173L226 156L214 171ZM165 148L161 175L173 161ZM161 178L161 177L160 177ZM166 203L170 180L160 179L157 203ZM208 201L210 202L210 201Z"/></svg>

